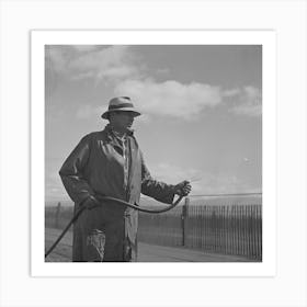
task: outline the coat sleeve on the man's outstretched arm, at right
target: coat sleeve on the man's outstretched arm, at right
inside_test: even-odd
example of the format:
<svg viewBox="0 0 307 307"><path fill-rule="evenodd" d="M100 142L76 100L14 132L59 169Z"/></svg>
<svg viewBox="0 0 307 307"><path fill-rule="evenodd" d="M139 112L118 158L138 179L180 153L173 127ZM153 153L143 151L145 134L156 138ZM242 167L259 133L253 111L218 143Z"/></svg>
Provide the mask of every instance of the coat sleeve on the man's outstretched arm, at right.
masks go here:
<svg viewBox="0 0 307 307"><path fill-rule="evenodd" d="M158 202L171 204L174 197L174 185L155 180L144 162L141 155L141 191L144 195L150 196Z"/></svg>

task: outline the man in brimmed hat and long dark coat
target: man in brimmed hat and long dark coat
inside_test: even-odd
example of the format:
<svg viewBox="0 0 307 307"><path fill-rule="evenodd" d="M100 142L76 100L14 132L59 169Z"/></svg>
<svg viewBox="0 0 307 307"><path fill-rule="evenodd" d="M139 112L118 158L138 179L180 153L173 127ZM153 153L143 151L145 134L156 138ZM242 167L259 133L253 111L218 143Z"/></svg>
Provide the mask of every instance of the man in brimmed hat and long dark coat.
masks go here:
<svg viewBox="0 0 307 307"><path fill-rule="evenodd" d="M139 115L129 98L112 99L101 115L110 123L84 136L59 171L75 211L87 208L73 226L72 261L136 261L138 212L101 196L138 205L143 193L171 204L174 194L191 191L187 181L171 185L151 178L132 130Z"/></svg>

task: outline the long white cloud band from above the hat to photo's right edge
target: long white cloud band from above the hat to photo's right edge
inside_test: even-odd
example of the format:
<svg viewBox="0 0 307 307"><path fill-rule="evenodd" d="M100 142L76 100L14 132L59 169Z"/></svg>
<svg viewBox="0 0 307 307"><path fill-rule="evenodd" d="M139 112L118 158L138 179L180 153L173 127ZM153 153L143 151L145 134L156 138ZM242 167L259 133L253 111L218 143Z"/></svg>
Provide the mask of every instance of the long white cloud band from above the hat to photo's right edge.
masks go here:
<svg viewBox="0 0 307 307"><path fill-rule="evenodd" d="M207 107L221 103L237 115L260 116L262 113L261 91L254 87L221 90L205 83L157 82L147 78L124 80L114 91L118 95L132 96L138 107L150 115L195 120Z"/></svg>

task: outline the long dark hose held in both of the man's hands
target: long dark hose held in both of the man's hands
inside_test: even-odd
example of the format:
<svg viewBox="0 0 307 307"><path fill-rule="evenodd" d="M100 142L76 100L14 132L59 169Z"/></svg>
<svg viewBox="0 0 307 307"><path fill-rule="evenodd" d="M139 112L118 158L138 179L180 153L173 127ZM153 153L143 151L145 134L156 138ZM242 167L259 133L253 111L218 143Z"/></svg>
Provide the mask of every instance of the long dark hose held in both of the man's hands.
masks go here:
<svg viewBox="0 0 307 307"><path fill-rule="evenodd" d="M122 200L118 200L118 198L115 198L115 197L111 197L111 196L100 196L99 197L99 201L112 201L112 202L116 202L121 205L124 205L124 206L128 206L130 208L134 208L134 209L137 209L139 212L145 212L145 213L151 213L151 214L158 214L158 213L163 213L163 212L168 212L170 209L172 209L173 207L175 207L180 202L181 200L183 198L183 196L179 196L178 200L162 208L162 209L146 209L146 208L143 208L143 207L139 207L139 206L136 206L136 205L133 205L130 203L127 203L125 201L122 201ZM100 206L100 204L98 204L96 206L94 207L98 207ZM81 213L86 209L87 207L86 206L81 206L77 212L76 214L73 215L73 217L71 218L71 220L67 224L67 226L65 227L65 229L61 231L61 234L59 235L59 237L57 238L57 240L53 243L53 246L47 250L47 252L45 253L45 258L48 257L48 254L56 248L56 246L58 245L58 242L61 240L61 238L66 235L66 232L68 231L68 229L70 228L70 226L79 218L79 216L81 215Z"/></svg>

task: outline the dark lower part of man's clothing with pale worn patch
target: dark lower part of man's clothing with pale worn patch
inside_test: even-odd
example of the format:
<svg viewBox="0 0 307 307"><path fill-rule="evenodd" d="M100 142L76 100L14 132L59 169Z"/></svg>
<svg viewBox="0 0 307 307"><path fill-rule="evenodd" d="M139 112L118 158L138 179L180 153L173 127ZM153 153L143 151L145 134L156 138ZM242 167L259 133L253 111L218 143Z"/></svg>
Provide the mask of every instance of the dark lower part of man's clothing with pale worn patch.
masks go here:
<svg viewBox="0 0 307 307"><path fill-rule="evenodd" d="M73 225L72 262L132 262L137 243L126 231L124 209L101 205L84 209Z"/></svg>

